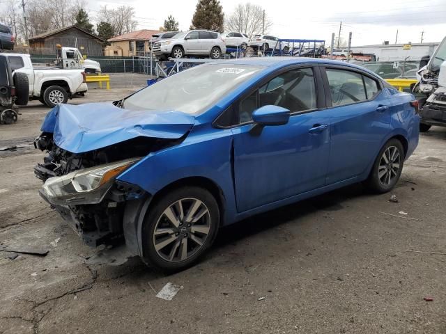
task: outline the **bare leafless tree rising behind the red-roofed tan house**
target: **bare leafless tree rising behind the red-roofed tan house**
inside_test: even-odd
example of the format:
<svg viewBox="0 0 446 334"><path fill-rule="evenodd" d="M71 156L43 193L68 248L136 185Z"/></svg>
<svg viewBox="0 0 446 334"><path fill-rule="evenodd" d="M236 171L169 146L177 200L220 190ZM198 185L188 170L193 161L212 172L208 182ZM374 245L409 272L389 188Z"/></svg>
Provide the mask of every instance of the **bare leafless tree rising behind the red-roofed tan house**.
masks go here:
<svg viewBox="0 0 446 334"><path fill-rule="evenodd" d="M114 35L122 35L137 29L138 22L133 17L134 8L131 6L119 6L116 9L103 6L100 8L98 21L109 22L114 27Z"/></svg>

